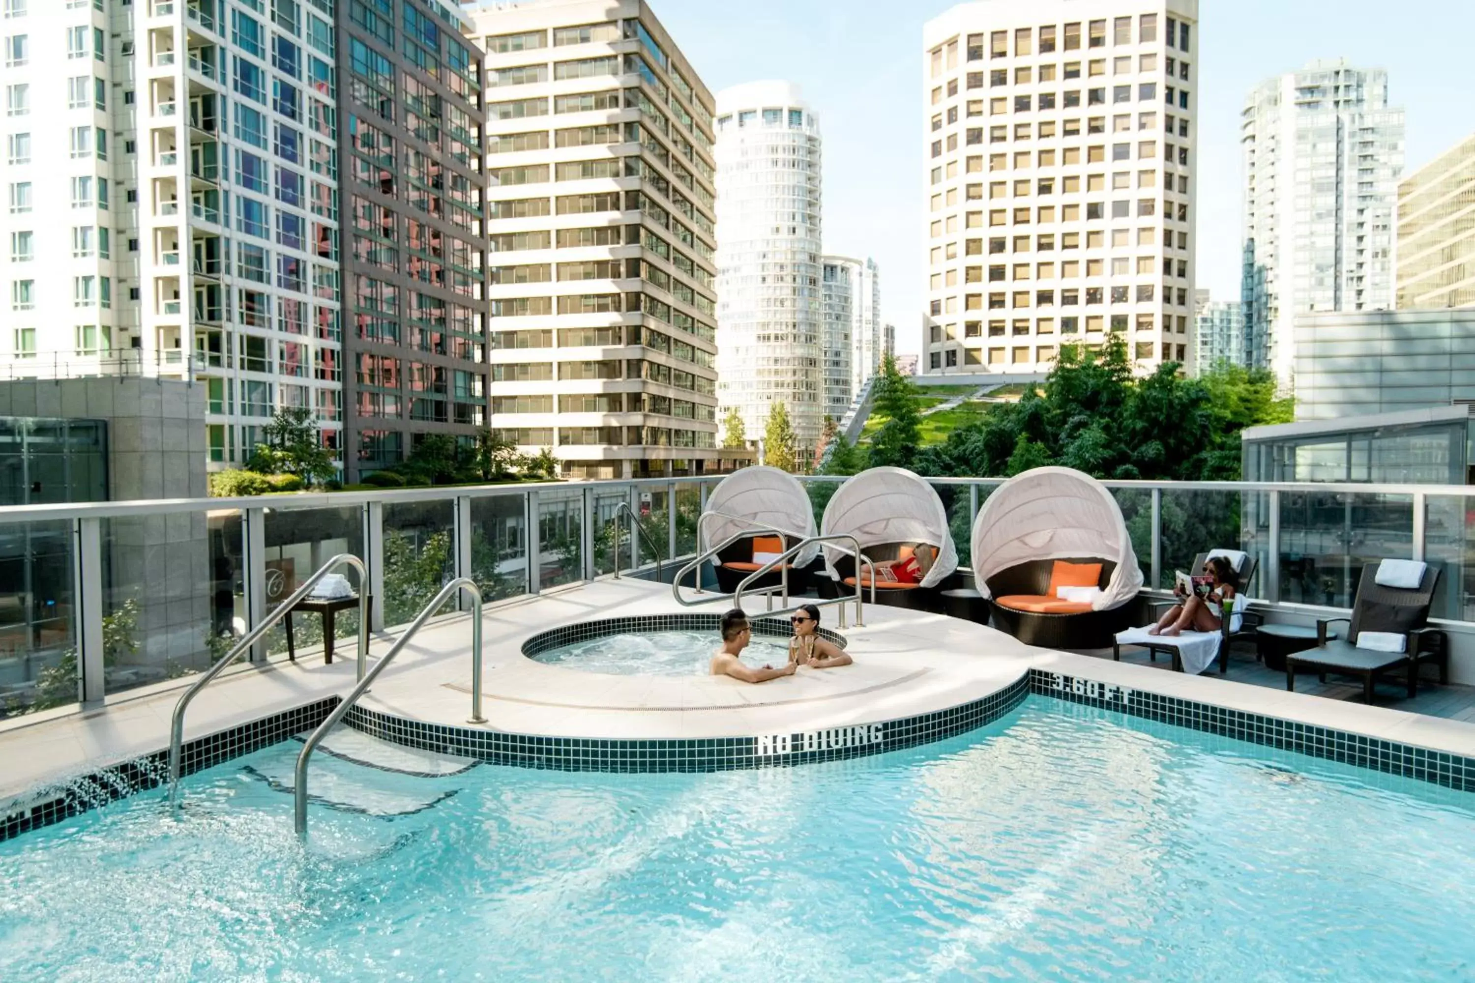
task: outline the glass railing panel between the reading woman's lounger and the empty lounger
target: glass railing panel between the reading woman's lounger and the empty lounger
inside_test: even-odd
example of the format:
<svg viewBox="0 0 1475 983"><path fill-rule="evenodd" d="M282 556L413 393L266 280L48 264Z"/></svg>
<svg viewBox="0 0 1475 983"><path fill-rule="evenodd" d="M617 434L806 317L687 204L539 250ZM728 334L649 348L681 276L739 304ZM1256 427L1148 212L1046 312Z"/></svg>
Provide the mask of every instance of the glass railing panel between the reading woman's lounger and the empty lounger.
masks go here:
<svg viewBox="0 0 1475 983"><path fill-rule="evenodd" d="M1413 556L1413 497L1280 492L1280 600L1350 607L1363 564Z"/></svg>

